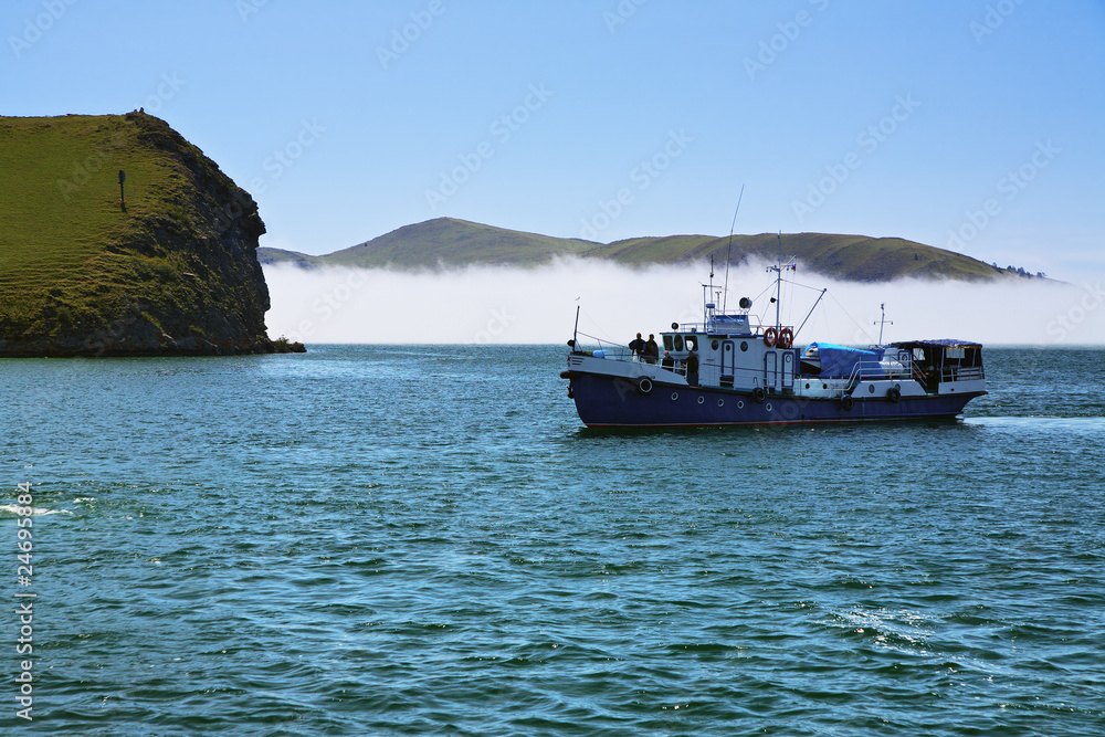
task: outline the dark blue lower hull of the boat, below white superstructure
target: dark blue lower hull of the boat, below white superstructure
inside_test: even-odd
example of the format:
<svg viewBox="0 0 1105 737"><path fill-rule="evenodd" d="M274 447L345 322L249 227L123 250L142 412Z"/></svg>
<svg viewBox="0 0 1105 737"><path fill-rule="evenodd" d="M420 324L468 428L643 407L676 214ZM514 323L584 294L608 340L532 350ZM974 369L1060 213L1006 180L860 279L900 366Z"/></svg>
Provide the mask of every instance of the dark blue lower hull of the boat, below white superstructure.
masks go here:
<svg viewBox="0 0 1105 737"><path fill-rule="evenodd" d="M902 398L839 399L770 394L762 403L745 392L656 385L648 394L624 379L583 373L571 379L579 419L589 428L787 424L954 418L986 392Z"/></svg>

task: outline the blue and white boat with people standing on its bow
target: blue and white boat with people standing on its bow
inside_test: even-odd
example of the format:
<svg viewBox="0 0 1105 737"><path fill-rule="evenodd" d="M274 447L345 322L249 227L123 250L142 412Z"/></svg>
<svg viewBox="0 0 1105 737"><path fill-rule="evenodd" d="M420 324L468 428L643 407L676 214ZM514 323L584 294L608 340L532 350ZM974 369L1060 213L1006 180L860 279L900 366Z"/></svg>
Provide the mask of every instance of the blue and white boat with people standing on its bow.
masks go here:
<svg viewBox="0 0 1105 737"><path fill-rule="evenodd" d="M747 297L735 313L709 301L723 294L712 267L703 322L662 331L664 359L659 344L655 351L585 350L577 308L560 378L580 420L589 428L663 428L953 419L987 393L982 346L970 340L883 345L880 327L878 344L864 348L797 347L809 315L797 329L779 318L782 273L794 267L780 259L769 269L777 272L769 323L751 314Z"/></svg>

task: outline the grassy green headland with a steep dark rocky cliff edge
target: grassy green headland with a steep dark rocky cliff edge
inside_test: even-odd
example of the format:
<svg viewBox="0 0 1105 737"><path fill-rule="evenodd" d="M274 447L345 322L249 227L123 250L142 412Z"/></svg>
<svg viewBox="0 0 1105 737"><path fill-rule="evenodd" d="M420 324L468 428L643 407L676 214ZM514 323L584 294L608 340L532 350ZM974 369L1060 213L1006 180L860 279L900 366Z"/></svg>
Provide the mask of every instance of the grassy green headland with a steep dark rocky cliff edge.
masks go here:
<svg viewBox="0 0 1105 737"><path fill-rule="evenodd" d="M256 202L164 120L137 112L0 118L0 145L9 140L32 157L43 151L48 170L23 164L24 156L2 161L10 166L0 178L54 180L39 191L43 209L57 208L59 233L52 238L50 218L35 218L32 208L23 217L39 230L14 222L11 230L30 235L0 241L0 356L288 349L265 329L269 288L256 255L265 225ZM65 164L49 169L46 152L56 149ZM25 170L12 171L20 166ZM128 175L125 201L119 170Z"/></svg>

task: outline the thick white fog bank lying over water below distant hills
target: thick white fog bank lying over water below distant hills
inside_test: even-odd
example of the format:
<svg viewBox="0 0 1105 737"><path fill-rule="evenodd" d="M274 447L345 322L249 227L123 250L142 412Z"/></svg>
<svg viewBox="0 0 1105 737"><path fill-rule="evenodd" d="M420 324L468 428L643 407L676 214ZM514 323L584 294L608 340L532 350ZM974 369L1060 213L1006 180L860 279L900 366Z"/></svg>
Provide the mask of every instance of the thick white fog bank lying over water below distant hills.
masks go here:
<svg viewBox="0 0 1105 737"><path fill-rule="evenodd" d="M701 322L701 285L708 281L709 267L631 269L559 260L535 269L305 271L280 265L264 271L272 296L270 334L307 344L562 344L571 337L578 305L581 337L624 345L638 331L659 334L673 322ZM775 323L772 276L764 265L732 270L729 312L748 296L751 313ZM715 284L724 280L718 270ZM893 322L885 326L885 341L950 337L986 345L1105 345L1103 282L1085 275L1075 284L857 284L799 271L783 283L780 317L783 324L801 325L828 287L798 345L874 343L881 304Z"/></svg>

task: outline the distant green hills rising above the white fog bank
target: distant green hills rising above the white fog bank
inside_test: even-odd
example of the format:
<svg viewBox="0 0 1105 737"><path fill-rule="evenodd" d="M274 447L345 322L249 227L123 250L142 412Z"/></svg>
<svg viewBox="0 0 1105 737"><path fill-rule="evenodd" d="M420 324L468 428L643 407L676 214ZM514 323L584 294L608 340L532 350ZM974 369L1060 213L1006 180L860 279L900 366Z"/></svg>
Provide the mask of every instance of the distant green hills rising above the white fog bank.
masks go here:
<svg viewBox="0 0 1105 737"><path fill-rule="evenodd" d="M886 282L901 277L989 281L1009 275L1007 270L961 253L899 238L783 233L781 239L783 257L797 259L803 270L850 282ZM557 256L601 259L630 266L708 261L713 256L715 264L724 264L728 252L727 235L667 235L596 243L438 218L323 256L261 248L257 259L262 264L291 263L305 269L417 270L537 266ZM779 238L775 233L733 236L730 263L734 265L775 261L778 254Z"/></svg>

